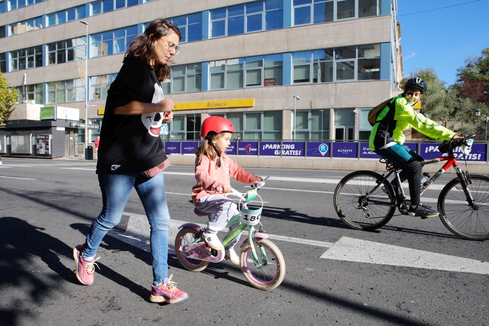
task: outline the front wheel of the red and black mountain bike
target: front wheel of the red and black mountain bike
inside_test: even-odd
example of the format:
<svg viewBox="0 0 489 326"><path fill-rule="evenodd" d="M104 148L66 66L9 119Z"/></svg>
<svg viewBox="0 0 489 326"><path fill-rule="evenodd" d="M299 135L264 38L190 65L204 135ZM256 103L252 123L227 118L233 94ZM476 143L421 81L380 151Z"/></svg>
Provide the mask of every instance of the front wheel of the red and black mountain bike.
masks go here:
<svg viewBox="0 0 489 326"><path fill-rule="evenodd" d="M438 211L443 224L459 237L483 241L489 239L489 175L469 174L467 188L475 207L468 205L464 189L457 177L443 188L438 198Z"/></svg>

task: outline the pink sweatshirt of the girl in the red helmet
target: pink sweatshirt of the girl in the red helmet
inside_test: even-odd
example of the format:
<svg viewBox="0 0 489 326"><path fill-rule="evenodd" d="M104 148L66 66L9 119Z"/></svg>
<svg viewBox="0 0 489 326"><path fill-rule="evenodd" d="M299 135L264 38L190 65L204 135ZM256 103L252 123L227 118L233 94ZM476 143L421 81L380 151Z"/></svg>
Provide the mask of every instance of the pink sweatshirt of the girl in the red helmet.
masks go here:
<svg viewBox="0 0 489 326"><path fill-rule="evenodd" d="M192 188L194 205L197 205L203 196L224 196L224 193L218 192L217 187L222 184L230 184L229 177L243 183L251 183L256 177L255 174L244 170L225 153L221 153L221 155L220 168L217 166L217 156L212 161L205 155L195 159L195 178L197 179L197 184Z"/></svg>

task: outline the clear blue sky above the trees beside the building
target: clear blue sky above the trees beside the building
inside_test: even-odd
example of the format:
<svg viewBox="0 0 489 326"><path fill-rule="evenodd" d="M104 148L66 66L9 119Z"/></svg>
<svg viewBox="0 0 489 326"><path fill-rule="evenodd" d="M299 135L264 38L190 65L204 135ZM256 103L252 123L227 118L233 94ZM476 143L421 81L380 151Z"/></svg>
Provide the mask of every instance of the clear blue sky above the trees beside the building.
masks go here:
<svg viewBox="0 0 489 326"><path fill-rule="evenodd" d="M406 15L469 1L398 0L404 77L417 68L433 67L451 85L466 57L489 47L489 0Z"/></svg>

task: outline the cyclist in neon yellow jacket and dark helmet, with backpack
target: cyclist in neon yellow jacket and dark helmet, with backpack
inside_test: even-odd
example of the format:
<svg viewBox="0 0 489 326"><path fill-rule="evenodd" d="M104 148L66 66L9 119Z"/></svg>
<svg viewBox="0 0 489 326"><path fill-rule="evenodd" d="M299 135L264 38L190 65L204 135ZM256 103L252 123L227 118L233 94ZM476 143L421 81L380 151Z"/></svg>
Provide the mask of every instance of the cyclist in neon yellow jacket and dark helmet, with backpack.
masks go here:
<svg viewBox="0 0 489 326"><path fill-rule="evenodd" d="M424 80L418 77L410 78L404 84L402 94L378 106L377 108L383 108L377 111L376 116L369 114L369 122L373 125L370 133L370 150L402 169L400 179L401 181L407 179L411 196L411 207L408 214L413 217L434 217L439 213L421 203L422 166L419 162L423 159L416 152L402 145L406 139L402 131L414 128L436 140L453 139L455 141L462 138L455 132L414 111L412 107L420 100L426 89L427 85ZM397 187L394 182L391 184Z"/></svg>

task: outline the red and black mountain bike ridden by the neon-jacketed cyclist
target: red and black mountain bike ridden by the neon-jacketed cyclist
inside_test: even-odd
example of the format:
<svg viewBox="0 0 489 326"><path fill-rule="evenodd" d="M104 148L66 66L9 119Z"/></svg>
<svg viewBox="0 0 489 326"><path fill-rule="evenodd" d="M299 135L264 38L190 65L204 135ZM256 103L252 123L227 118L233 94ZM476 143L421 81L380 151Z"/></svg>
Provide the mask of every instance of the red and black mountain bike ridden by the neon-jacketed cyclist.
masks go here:
<svg viewBox="0 0 489 326"><path fill-rule="evenodd" d="M464 137L448 147L448 156L425 160L421 165L445 161L445 165L421 186L421 194L429 188L450 166L457 177L443 188L438 197L438 212L443 224L455 235L469 240L489 239L489 175L469 174L457 165L453 149L462 146L464 152L470 152L471 139L475 134ZM470 139L467 143L467 139ZM447 145L448 144L448 145ZM338 216L349 226L357 230L374 230L384 226L393 216L396 208L407 215L411 202L406 199L400 183L399 173L394 164L386 159L387 171L380 175L372 171L357 171L346 175L334 191L334 208ZM466 164L467 165L467 164ZM386 175L387 174L387 175ZM387 178L394 174L397 187L392 187ZM396 189L394 189L396 188Z"/></svg>

